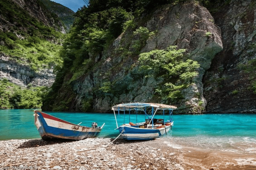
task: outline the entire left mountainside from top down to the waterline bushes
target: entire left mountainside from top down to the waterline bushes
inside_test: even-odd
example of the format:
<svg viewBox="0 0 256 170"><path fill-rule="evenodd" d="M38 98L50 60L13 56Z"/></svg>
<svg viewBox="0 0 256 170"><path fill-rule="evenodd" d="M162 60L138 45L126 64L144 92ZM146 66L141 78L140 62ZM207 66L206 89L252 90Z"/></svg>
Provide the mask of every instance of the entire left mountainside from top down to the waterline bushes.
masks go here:
<svg viewBox="0 0 256 170"><path fill-rule="evenodd" d="M40 1L0 0L0 109L42 105L42 86L52 85L62 64L63 33Z"/></svg>

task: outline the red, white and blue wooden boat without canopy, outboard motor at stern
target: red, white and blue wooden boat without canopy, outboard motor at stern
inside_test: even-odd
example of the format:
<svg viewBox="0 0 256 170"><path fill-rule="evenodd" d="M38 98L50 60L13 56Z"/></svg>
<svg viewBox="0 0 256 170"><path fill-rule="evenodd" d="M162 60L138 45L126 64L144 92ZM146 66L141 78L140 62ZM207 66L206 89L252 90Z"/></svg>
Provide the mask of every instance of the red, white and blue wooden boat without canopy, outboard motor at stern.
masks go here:
<svg viewBox="0 0 256 170"><path fill-rule="evenodd" d="M81 140L88 137L96 137L105 124L97 127L97 123L93 122L92 127L80 126L38 110L34 111L34 117L35 125L43 140L54 138Z"/></svg>

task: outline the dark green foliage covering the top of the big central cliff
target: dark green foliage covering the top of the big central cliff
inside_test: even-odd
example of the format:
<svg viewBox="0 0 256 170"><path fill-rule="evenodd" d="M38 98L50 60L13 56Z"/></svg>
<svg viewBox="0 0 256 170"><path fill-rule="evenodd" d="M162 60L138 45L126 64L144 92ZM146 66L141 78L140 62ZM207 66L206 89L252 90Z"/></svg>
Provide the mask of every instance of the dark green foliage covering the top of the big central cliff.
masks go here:
<svg viewBox="0 0 256 170"><path fill-rule="evenodd" d="M75 14L76 21L63 44L64 68L76 70L77 63L83 63L91 56L102 56L104 48L123 31L140 27L134 20L142 14L163 4L186 3L190 0L89 0ZM219 0L199 0L202 4L212 5ZM141 41L141 40L140 40ZM139 41L138 41L139 43ZM134 47L138 43L134 43ZM90 58L94 60L94 58ZM99 58L100 59L100 58ZM62 72L65 72L62 69ZM65 74L61 74L65 75Z"/></svg>

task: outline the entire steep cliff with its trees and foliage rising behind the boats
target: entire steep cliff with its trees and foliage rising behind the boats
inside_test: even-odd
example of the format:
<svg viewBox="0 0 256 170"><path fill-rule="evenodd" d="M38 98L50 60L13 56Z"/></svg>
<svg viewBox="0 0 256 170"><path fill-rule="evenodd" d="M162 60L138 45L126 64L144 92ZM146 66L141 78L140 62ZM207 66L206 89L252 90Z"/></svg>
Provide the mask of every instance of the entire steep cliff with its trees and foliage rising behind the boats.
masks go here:
<svg viewBox="0 0 256 170"><path fill-rule="evenodd" d="M91 2L77 13L42 109L159 102L175 113L256 112L256 2L207 1L212 13L193 0Z"/></svg>

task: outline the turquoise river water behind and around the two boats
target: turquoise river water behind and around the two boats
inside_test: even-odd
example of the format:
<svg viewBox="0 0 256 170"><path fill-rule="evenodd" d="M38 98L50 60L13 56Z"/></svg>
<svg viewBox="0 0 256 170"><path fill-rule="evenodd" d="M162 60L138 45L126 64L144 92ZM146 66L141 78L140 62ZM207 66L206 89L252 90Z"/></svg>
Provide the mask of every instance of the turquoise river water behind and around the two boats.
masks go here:
<svg viewBox="0 0 256 170"><path fill-rule="evenodd" d="M116 122L112 113L66 113L46 112L74 124L98 126L105 123L99 137L115 137ZM156 118L160 118L156 115ZM168 119L169 115L165 116ZM172 137L249 137L256 138L256 114L205 114L205 115L173 115L174 126L169 136ZM124 123L123 114L117 119L119 125ZM125 122L143 122L144 115L125 115ZM0 140L40 138L34 125L33 110L0 110Z"/></svg>

